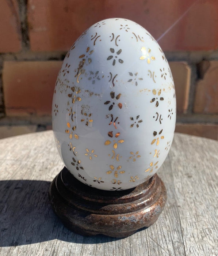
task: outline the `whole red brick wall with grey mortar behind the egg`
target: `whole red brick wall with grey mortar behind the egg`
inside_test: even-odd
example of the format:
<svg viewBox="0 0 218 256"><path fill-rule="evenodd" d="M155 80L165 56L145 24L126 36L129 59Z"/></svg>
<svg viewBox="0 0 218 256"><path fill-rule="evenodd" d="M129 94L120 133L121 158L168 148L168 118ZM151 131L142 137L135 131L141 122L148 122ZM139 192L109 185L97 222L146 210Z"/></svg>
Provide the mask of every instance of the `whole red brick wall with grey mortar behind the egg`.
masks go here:
<svg viewBox="0 0 218 256"><path fill-rule="evenodd" d="M218 139L217 0L1 0L0 138L51 129L66 52L89 26L114 17L145 27L164 51L176 131Z"/></svg>

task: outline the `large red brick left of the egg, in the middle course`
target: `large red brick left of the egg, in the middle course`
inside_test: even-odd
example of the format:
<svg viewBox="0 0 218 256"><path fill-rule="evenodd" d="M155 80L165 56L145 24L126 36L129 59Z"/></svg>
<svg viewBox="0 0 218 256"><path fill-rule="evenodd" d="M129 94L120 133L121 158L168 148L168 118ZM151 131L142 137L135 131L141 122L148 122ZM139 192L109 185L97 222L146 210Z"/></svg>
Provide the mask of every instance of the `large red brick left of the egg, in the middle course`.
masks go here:
<svg viewBox="0 0 218 256"><path fill-rule="evenodd" d="M61 64L62 61L6 61L3 89L7 116L51 115Z"/></svg>

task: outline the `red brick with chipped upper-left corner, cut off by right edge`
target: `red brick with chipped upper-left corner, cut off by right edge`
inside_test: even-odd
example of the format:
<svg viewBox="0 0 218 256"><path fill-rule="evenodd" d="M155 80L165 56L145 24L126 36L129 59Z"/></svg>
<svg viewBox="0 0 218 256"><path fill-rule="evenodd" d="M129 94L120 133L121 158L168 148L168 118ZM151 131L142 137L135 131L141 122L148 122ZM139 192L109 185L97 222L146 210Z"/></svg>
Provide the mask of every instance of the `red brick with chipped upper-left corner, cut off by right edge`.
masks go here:
<svg viewBox="0 0 218 256"><path fill-rule="evenodd" d="M218 61L202 61L199 70L194 112L218 114Z"/></svg>

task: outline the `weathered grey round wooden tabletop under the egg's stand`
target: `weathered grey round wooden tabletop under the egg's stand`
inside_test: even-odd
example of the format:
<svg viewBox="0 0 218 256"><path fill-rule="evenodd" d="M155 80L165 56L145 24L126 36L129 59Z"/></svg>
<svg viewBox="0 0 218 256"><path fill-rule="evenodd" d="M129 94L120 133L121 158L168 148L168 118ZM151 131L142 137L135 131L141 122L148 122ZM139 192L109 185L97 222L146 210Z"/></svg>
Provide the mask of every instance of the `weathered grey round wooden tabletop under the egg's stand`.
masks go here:
<svg viewBox="0 0 218 256"><path fill-rule="evenodd" d="M51 131L0 140L0 255L218 255L218 142L176 134L158 175L168 200L148 229L83 237L51 210L64 166Z"/></svg>

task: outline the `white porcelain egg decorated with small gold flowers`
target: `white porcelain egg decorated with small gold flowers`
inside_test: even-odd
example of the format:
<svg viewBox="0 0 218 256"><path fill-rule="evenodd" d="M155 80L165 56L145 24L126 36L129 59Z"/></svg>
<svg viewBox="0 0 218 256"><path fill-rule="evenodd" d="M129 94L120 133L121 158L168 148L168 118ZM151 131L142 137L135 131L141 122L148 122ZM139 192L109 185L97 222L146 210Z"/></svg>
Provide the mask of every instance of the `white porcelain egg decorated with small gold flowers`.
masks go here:
<svg viewBox="0 0 218 256"><path fill-rule="evenodd" d="M70 173L98 189L136 187L153 176L173 140L176 98L168 62L137 23L106 19L67 53L52 123Z"/></svg>

